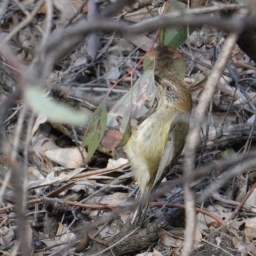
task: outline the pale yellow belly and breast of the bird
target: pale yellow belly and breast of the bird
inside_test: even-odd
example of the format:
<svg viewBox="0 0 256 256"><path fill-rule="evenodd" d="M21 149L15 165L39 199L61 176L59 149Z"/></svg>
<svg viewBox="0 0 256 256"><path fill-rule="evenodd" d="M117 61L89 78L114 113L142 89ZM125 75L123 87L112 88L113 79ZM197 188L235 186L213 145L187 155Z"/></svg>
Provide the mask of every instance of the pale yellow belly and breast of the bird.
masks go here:
<svg viewBox="0 0 256 256"><path fill-rule="evenodd" d="M176 111L157 111L143 121L132 133L124 150L127 154L134 177L140 184L141 192L154 183L168 129Z"/></svg>

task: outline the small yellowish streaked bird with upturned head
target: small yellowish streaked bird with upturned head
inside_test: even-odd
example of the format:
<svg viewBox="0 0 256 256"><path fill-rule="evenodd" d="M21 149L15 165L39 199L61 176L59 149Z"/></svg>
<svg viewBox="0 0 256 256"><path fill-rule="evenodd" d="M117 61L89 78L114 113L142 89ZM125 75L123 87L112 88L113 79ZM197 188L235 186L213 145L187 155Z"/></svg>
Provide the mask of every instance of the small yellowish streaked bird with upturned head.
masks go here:
<svg viewBox="0 0 256 256"><path fill-rule="evenodd" d="M155 81L158 88L156 110L133 127L131 138L124 146L144 199L134 214L140 218L145 209L141 225L147 216L148 195L163 179L164 169L175 164L184 148L192 109L191 93L179 79L155 76Z"/></svg>

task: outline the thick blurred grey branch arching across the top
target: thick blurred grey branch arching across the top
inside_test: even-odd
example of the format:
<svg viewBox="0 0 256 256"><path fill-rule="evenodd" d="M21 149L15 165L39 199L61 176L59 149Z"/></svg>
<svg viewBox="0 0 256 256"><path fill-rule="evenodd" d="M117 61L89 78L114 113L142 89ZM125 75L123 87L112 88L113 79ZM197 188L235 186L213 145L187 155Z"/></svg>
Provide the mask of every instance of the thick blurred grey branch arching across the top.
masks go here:
<svg viewBox="0 0 256 256"><path fill-rule="evenodd" d="M221 8L222 7L220 6L220 8L217 9L220 10ZM210 9L204 8L204 10ZM60 33L52 35L51 38L49 38L49 41L47 41L47 44L45 44L43 48L41 47L41 49L39 49L39 53L47 52L48 58L45 58L45 65L48 66L50 64L51 66L52 60L56 61L62 58L67 51L70 51L70 49L79 44L79 42L81 42L81 40L84 39L84 36L88 35L88 33L100 30L115 30L120 33L135 34L144 33L145 31L154 31L156 29L166 28L169 26L198 26L199 24L207 24L211 26L217 26L218 28L222 28L225 31L233 31L234 33L236 33L236 31L240 31L240 29L252 29L256 26L255 17L241 18L236 16L231 19L225 19L225 22L223 22L223 19L220 18L216 19L205 16L188 15L188 13L195 14L197 12L196 9L193 9L190 12L175 12L171 15L167 14L161 17L147 19L146 21L140 22L139 24L133 26L127 26L126 24L124 24L124 22L111 22L109 20L104 20L104 22L99 20L93 23L79 22L79 24L72 26L72 28L65 29L65 33L64 31L60 31ZM202 12L202 8L200 12ZM63 42L66 43L66 40L68 40L68 44L63 44ZM48 60L50 56L52 60ZM49 69L50 67L44 68L45 72L49 72L47 69Z"/></svg>

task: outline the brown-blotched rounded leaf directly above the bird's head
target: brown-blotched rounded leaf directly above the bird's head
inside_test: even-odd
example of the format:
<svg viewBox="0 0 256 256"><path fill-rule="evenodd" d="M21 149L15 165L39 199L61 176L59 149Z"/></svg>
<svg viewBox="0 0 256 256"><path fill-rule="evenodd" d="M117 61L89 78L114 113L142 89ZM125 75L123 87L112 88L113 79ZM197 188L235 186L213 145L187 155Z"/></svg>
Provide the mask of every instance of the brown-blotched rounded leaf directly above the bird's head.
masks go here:
<svg viewBox="0 0 256 256"><path fill-rule="evenodd" d="M158 45L147 52L143 61L143 70L154 70L155 75L163 78L174 76L184 80L186 64L182 55L175 49L165 45Z"/></svg>

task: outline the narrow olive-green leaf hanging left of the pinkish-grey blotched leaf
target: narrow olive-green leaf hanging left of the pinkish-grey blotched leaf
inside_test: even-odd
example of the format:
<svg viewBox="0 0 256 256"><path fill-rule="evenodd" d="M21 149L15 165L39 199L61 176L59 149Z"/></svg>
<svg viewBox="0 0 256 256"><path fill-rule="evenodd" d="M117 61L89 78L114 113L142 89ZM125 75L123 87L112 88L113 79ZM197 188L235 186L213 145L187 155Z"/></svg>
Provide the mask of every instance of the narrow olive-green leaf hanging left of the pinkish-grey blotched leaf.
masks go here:
<svg viewBox="0 0 256 256"><path fill-rule="evenodd" d="M95 150L100 145L100 141L102 140L106 129L107 120L108 113L106 105L105 102L102 102L93 113L88 128L84 133L82 147L86 147L88 151L86 162L92 158Z"/></svg>

